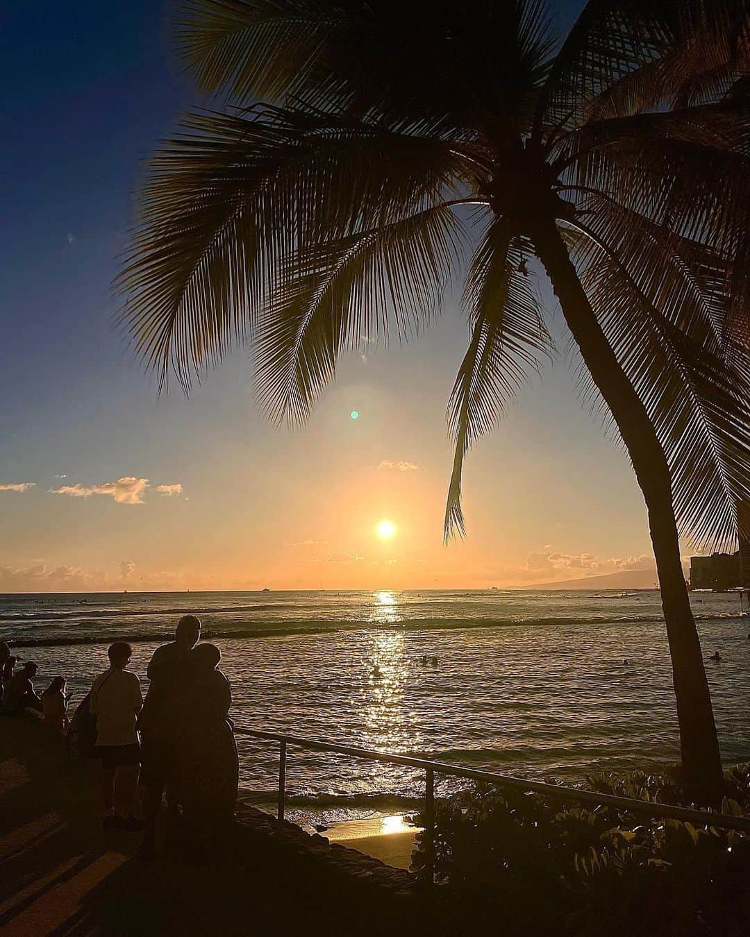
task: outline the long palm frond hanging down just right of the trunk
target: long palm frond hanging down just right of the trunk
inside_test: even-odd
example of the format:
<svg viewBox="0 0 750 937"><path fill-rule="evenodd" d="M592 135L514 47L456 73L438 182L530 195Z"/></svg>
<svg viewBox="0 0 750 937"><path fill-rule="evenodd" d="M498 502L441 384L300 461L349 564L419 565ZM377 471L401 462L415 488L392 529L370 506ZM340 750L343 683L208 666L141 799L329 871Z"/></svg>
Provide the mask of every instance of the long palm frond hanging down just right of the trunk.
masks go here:
<svg viewBox="0 0 750 937"><path fill-rule="evenodd" d="M750 497L750 356L727 354L695 283L657 241L628 232L624 216L600 228L577 252L584 288L667 455L682 533L727 547Z"/></svg>

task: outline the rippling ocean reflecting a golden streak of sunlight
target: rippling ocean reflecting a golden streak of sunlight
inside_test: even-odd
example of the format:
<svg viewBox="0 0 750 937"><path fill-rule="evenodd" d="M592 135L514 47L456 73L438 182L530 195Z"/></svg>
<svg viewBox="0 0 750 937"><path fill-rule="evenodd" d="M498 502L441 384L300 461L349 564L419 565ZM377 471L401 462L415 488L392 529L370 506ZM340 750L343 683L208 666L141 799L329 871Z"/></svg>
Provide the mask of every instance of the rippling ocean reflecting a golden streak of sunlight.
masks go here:
<svg viewBox="0 0 750 937"><path fill-rule="evenodd" d="M722 754L727 764L750 760L750 619L736 593L691 602ZM237 726L565 781L679 756L656 591L5 595L0 637L37 662L37 690L67 677L75 706L109 642L133 643L145 682L154 648L188 612L221 648ZM708 660L715 650L722 662ZM238 747L242 787L273 804L277 747L247 738ZM295 810L323 822L408 810L422 783L411 768L289 752L292 819ZM439 779L438 792L458 783Z"/></svg>

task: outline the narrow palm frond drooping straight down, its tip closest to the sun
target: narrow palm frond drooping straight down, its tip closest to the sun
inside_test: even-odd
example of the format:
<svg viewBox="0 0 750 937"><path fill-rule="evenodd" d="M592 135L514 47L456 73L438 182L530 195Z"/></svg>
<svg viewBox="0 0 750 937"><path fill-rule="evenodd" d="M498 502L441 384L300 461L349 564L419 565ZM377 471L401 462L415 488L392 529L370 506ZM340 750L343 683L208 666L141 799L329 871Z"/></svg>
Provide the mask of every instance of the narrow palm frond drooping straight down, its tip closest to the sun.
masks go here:
<svg viewBox="0 0 750 937"><path fill-rule="evenodd" d="M474 252L464 290L472 337L448 404L454 459L445 505L445 538L465 532L463 460L515 398L551 348L541 306L524 282L524 249L504 219L494 219Z"/></svg>

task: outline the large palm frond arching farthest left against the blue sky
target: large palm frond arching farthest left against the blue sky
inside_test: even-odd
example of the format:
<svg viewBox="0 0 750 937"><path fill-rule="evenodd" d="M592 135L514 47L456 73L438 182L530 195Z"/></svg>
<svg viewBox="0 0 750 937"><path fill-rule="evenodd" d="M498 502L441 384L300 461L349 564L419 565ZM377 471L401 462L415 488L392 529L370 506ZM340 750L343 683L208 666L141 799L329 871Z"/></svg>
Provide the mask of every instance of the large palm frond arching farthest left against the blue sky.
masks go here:
<svg viewBox="0 0 750 937"><path fill-rule="evenodd" d="M194 113L152 160L119 287L136 354L186 390L248 337L310 244L445 201L475 171L443 141L308 112Z"/></svg>

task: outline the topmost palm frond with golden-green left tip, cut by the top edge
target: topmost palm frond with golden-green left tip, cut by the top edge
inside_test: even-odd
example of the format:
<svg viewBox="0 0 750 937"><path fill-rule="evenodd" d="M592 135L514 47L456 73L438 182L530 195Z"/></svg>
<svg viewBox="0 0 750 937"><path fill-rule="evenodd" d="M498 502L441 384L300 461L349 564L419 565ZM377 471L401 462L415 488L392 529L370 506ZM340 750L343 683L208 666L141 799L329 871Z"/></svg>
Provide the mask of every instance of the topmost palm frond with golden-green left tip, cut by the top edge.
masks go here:
<svg viewBox="0 0 750 937"><path fill-rule="evenodd" d="M178 37L199 86L235 104L299 99L419 132L510 130L553 48L543 0L190 0Z"/></svg>

